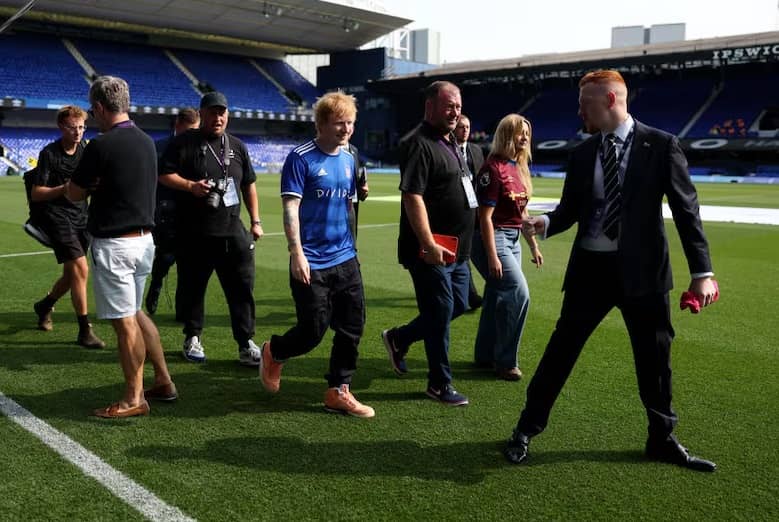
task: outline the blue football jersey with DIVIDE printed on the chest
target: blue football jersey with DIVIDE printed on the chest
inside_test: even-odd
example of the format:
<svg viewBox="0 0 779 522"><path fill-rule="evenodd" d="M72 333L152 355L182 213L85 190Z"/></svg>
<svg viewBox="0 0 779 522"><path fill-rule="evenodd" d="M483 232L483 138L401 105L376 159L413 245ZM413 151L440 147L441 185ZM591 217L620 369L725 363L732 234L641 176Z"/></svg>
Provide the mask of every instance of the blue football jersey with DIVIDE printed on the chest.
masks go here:
<svg viewBox="0 0 779 522"><path fill-rule="evenodd" d="M292 150L281 170L281 195L300 198L300 239L314 270L353 258L349 201L356 191L354 158L325 154L312 140Z"/></svg>

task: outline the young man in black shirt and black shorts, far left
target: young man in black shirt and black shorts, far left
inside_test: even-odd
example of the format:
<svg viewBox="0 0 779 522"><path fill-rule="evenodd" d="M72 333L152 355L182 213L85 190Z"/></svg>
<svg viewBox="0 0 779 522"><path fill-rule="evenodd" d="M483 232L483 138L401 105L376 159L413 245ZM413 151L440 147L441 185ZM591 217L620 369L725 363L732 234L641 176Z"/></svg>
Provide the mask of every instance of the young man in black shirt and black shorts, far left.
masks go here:
<svg viewBox="0 0 779 522"><path fill-rule="evenodd" d="M57 126L62 137L49 143L38 156L32 180L30 200L40 203L40 226L52 241L54 256L62 265L62 276L49 293L33 305L38 316L38 328L54 328L51 312L57 300L70 291L70 299L78 319L76 342L85 348L105 348L105 343L92 331L87 315L87 276L89 264L86 252L90 237L87 233L86 202L72 202L65 197L65 184L76 170L84 152L87 113L80 107L66 105L57 111Z"/></svg>

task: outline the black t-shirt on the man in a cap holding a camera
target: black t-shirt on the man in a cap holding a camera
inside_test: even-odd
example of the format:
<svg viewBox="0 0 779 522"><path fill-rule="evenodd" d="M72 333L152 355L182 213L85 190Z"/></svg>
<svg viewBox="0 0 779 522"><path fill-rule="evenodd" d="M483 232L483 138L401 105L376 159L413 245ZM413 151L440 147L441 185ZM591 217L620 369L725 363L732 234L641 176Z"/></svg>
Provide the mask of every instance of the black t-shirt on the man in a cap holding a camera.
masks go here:
<svg viewBox="0 0 779 522"><path fill-rule="evenodd" d="M246 145L232 134L225 133L224 138L207 136L200 129L190 130L174 137L163 155L161 176L176 173L192 181L217 182L224 176L223 155L230 159L227 175L232 189L227 188L218 208L209 207L207 197L178 191L177 234L182 237L236 237L246 233L241 222L241 189L257 178ZM225 206L226 202L234 204Z"/></svg>

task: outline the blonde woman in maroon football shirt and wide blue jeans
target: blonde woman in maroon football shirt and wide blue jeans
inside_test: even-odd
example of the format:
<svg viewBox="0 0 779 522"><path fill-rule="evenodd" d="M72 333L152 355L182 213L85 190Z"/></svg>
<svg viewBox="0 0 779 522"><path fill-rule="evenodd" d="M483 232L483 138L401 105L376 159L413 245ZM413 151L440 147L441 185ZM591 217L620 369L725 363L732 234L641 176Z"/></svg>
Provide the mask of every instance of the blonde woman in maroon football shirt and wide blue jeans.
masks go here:
<svg viewBox="0 0 779 522"><path fill-rule="evenodd" d="M520 234L525 236L536 266L544 262L536 238L522 231L533 190L528 168L530 136L530 122L524 117L504 117L475 180L479 199L476 234L480 238L474 238L472 258L486 287L474 358L479 366L494 366L498 378L507 381L522 377L518 352L530 305L522 273Z"/></svg>

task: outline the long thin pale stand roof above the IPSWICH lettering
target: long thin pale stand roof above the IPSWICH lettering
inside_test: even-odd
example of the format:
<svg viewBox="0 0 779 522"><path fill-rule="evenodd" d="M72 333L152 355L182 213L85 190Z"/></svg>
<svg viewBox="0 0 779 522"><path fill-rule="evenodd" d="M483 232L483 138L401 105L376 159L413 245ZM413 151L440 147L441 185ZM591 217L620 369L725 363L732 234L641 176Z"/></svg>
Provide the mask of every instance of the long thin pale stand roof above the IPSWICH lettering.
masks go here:
<svg viewBox="0 0 779 522"><path fill-rule="evenodd" d="M412 78L435 78L470 76L500 71L512 71L520 68L539 66L555 66L566 64L579 64L584 62L608 62L620 61L630 58L662 58L674 54L694 54L705 51L728 48L754 48L760 46L775 46L779 43L779 31L754 33L738 36L724 36L717 38L703 38L699 40L686 40L680 42L667 42L658 44L636 45L631 47L619 47L612 49L596 49L592 51L579 51L571 53L549 53L519 56L517 58L505 58L500 60L476 60L446 64L435 69L397 75L386 80L402 80ZM771 52L771 54L779 54Z"/></svg>

